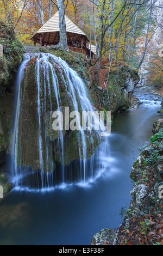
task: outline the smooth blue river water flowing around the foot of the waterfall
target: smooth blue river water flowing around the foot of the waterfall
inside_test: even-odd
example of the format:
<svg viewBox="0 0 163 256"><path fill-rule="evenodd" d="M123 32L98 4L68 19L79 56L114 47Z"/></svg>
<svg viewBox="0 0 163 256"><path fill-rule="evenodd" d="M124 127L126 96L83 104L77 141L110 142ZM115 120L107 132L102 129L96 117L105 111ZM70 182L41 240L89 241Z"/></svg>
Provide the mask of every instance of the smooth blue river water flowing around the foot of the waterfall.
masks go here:
<svg viewBox="0 0 163 256"><path fill-rule="evenodd" d="M153 122L162 117L156 113L158 96L135 94L142 104L114 117L101 156L103 169L95 180L46 192L13 189L1 200L1 245L89 245L101 229L122 223L119 214L129 206L134 187L131 167L153 135Z"/></svg>

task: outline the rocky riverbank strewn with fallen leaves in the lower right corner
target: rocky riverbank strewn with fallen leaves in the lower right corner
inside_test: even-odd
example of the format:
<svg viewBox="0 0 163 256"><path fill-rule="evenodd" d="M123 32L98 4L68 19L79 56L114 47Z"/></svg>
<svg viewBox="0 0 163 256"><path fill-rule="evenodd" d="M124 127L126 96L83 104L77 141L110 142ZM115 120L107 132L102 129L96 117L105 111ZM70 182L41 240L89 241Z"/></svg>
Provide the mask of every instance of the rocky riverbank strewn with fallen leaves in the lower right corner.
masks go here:
<svg viewBox="0 0 163 256"><path fill-rule="evenodd" d="M163 245L163 119L153 125L154 135L134 162L130 178L135 182L132 200L117 229L103 229L91 245Z"/></svg>

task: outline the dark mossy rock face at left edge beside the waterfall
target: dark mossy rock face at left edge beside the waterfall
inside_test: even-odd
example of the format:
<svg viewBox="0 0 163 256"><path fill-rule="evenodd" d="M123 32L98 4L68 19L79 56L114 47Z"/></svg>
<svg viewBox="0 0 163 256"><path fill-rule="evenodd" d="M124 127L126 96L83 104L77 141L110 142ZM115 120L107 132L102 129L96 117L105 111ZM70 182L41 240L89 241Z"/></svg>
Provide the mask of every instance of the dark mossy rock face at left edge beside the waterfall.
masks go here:
<svg viewBox="0 0 163 256"><path fill-rule="evenodd" d="M0 166L5 163L5 155L10 151L12 137L12 117L16 69L23 59L23 46L12 30L0 21L0 44L3 57L0 57Z"/></svg>

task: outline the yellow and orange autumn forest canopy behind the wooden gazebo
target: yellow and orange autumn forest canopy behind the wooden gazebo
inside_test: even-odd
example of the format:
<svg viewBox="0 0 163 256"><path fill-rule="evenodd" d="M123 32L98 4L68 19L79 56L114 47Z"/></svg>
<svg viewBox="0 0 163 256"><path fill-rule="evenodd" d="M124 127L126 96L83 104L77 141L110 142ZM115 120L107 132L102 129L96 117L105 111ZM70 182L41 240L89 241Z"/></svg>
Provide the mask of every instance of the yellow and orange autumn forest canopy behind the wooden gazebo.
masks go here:
<svg viewBox="0 0 163 256"><path fill-rule="evenodd" d="M102 58L109 58L110 73L117 63L140 70L146 55L149 81L161 84L160 3L157 0L1 0L0 13L1 20L16 32L23 44L32 44L30 37L64 5L64 14L96 46L93 65L97 68L97 84Z"/></svg>

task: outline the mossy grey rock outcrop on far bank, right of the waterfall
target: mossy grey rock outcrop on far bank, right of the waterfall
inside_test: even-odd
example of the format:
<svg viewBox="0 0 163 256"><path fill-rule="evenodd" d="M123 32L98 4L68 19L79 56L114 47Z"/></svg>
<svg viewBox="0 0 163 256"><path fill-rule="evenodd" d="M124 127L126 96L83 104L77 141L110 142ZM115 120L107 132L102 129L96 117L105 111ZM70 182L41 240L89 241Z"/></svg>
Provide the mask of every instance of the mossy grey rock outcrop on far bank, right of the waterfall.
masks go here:
<svg viewBox="0 0 163 256"><path fill-rule="evenodd" d="M108 74L106 74L106 80L107 77ZM109 75L108 93L102 87L91 89L93 104L111 113L126 111L131 105L131 96L139 80L140 77L136 71L118 67Z"/></svg>

